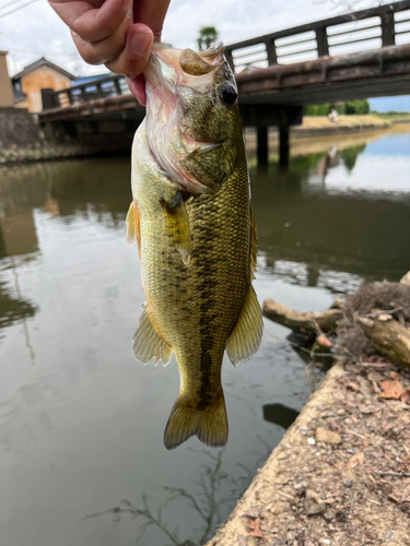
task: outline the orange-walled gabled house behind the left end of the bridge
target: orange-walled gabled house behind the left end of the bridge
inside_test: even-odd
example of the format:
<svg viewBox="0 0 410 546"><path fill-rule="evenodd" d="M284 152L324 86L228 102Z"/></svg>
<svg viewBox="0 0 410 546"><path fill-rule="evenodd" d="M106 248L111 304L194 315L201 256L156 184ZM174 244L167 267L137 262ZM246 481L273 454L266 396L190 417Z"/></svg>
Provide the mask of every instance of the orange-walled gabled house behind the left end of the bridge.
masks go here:
<svg viewBox="0 0 410 546"><path fill-rule="evenodd" d="M14 106L32 112L42 111L42 90L66 90L73 80L73 74L42 57L13 75Z"/></svg>

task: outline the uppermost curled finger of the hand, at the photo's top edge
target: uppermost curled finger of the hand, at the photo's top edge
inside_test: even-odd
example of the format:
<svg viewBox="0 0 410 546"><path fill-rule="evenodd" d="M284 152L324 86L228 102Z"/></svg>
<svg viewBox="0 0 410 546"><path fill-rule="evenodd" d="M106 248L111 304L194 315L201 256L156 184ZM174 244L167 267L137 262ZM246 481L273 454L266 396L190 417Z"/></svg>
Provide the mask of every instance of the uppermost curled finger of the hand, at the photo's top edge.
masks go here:
<svg viewBox="0 0 410 546"><path fill-rule="evenodd" d="M121 25L132 0L105 0L101 8L85 1L50 0L62 21L85 41L101 41Z"/></svg>

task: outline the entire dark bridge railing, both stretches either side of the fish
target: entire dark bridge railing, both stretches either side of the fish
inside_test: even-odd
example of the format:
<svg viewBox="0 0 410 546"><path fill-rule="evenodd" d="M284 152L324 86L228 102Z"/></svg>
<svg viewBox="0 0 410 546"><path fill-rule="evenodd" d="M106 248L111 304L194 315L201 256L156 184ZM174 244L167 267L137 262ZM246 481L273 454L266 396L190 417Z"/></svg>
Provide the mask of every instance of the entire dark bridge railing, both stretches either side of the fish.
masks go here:
<svg viewBox="0 0 410 546"><path fill-rule="evenodd" d="M234 71L242 72L403 44L410 44L410 0L231 44L225 55ZM126 94L129 90L125 76L108 75L58 92L42 90L43 110Z"/></svg>

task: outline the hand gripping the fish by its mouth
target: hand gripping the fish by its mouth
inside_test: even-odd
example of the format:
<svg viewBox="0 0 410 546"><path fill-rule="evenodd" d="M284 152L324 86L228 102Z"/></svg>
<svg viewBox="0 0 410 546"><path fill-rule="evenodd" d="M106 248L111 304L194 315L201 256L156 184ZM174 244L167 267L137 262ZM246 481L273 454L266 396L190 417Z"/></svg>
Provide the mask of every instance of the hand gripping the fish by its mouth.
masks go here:
<svg viewBox="0 0 410 546"><path fill-rule="evenodd" d="M79 54L90 64L125 74L131 93L145 104L142 75L171 0L48 0L70 27Z"/></svg>

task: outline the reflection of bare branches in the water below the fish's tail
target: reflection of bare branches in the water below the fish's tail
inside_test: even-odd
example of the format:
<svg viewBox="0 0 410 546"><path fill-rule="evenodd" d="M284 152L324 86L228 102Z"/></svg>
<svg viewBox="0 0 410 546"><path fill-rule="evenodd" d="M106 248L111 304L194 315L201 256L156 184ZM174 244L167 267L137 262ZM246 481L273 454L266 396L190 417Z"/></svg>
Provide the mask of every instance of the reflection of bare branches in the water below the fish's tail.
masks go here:
<svg viewBox="0 0 410 546"><path fill-rule="evenodd" d="M272 450L260 438L259 443L265 444L266 452L259 455L255 464L262 464ZM191 451L198 453L196 450ZM136 520L136 543L147 534L149 544L163 544L165 538L175 546L202 546L225 521L230 513L226 512L226 505L231 507L232 499L241 498L253 478L253 468L244 464L237 465L237 472L225 472L224 451L222 449L216 454L201 451L208 461L200 466L196 479L199 488L195 488L194 495L189 489L164 486L159 488L160 501L142 495L140 507L130 500L122 500L116 507L87 515L85 520L112 514L113 521L119 523L124 518L131 518ZM183 519L175 518L175 513L184 514Z"/></svg>

